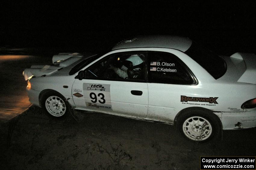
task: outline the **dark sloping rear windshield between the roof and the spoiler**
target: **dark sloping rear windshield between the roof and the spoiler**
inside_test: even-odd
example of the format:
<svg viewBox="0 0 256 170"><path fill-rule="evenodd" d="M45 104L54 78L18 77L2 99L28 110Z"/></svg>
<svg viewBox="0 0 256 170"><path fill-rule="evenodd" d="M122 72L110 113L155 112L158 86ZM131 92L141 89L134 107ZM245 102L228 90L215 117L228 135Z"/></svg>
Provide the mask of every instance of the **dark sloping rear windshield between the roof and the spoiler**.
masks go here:
<svg viewBox="0 0 256 170"><path fill-rule="evenodd" d="M226 62L196 42L192 42L191 47L185 53L208 71L214 79L218 79L226 73Z"/></svg>

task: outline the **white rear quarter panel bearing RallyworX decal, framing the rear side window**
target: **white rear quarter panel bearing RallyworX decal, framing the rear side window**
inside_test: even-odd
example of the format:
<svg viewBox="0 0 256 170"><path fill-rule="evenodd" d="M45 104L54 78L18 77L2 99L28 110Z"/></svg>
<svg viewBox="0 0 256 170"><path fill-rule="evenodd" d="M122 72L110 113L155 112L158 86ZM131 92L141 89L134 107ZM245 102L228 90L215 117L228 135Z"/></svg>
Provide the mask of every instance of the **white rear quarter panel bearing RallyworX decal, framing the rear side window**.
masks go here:
<svg viewBox="0 0 256 170"><path fill-rule="evenodd" d="M216 80L183 52L162 51L179 57L195 75L197 84L148 83L147 119L172 123L177 113L188 107L203 107L213 112L249 111L241 109L241 105L256 97L254 84Z"/></svg>

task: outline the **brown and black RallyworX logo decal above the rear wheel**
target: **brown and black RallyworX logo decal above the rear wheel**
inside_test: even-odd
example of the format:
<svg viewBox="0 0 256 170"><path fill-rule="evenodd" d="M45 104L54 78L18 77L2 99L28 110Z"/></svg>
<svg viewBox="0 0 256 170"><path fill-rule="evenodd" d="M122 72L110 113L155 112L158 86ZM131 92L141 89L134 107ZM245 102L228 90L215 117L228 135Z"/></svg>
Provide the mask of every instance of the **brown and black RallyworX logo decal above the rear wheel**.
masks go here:
<svg viewBox="0 0 256 170"><path fill-rule="evenodd" d="M187 97L180 96L181 102L195 101L195 102L206 102L209 104L197 104L197 103L182 103L182 104L193 104L193 105L208 105L208 106L216 106L218 102L216 101L219 97Z"/></svg>

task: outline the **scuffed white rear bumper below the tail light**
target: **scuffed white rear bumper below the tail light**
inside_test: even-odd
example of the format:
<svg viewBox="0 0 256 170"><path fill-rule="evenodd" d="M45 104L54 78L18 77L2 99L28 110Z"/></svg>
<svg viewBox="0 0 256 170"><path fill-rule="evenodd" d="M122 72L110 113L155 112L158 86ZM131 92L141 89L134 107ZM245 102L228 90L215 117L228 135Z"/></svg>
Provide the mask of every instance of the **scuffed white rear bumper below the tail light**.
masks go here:
<svg viewBox="0 0 256 170"><path fill-rule="evenodd" d="M256 109L250 112L215 113L220 117L223 130L256 127Z"/></svg>

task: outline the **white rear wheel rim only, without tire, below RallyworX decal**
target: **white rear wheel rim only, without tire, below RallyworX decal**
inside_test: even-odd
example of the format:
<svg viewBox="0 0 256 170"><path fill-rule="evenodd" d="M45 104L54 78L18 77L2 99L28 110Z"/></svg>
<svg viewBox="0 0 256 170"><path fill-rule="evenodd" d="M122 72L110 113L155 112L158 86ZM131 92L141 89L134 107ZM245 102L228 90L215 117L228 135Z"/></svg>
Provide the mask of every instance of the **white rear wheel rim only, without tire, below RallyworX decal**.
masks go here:
<svg viewBox="0 0 256 170"><path fill-rule="evenodd" d="M200 116L189 117L183 122L183 133L193 141L204 141L212 134L211 123Z"/></svg>

